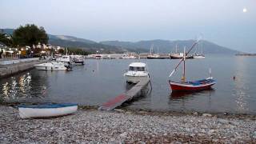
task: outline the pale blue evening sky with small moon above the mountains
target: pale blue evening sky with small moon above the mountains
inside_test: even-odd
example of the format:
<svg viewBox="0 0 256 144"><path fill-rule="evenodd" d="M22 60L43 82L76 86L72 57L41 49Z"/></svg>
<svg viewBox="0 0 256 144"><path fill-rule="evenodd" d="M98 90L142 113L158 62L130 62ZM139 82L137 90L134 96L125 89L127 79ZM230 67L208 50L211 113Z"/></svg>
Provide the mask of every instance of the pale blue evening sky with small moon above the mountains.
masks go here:
<svg viewBox="0 0 256 144"><path fill-rule="evenodd" d="M185 40L199 35L256 53L256 0L0 0L0 28L34 23L96 42Z"/></svg>

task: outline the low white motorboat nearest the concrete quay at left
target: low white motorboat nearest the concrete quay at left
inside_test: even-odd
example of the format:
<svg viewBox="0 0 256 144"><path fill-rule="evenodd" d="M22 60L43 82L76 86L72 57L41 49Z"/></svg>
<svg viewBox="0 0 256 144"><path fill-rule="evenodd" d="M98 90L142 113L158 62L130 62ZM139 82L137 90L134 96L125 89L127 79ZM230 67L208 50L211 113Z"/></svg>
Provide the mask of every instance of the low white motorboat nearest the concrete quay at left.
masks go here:
<svg viewBox="0 0 256 144"><path fill-rule="evenodd" d="M46 62L34 65L37 70L71 70L72 67L64 62Z"/></svg>

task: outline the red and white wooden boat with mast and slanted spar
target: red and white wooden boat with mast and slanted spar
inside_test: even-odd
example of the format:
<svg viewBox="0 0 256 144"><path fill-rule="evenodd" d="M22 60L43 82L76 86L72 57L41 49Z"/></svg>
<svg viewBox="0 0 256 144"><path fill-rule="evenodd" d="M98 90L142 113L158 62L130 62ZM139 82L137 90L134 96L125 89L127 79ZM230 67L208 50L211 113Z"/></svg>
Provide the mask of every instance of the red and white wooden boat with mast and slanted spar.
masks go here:
<svg viewBox="0 0 256 144"><path fill-rule="evenodd" d="M194 42L194 44L191 46L190 50L186 53L186 50L184 49L183 58L180 62L178 62L178 65L175 67L175 69L171 72L170 76L174 74L174 72L178 69L178 66L183 62L183 74L182 74L182 80L181 82L174 82L172 80L169 80L170 83L170 89L173 91L196 91L196 90L208 90L211 86L213 86L216 81L210 76L210 78L197 80L197 81L186 81L185 77L185 61L186 61L186 55L190 53L190 51L198 44L197 42ZM211 73L211 72L210 72Z"/></svg>

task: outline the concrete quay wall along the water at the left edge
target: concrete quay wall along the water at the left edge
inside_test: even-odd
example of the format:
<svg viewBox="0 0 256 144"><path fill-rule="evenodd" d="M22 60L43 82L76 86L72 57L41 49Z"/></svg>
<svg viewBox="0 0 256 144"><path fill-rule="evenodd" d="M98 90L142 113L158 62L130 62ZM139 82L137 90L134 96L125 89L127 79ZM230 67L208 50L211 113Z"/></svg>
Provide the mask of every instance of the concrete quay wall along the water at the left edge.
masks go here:
<svg viewBox="0 0 256 144"><path fill-rule="evenodd" d="M46 62L46 60L38 60L31 58L29 60L26 59L26 61L21 61L21 62L2 62L2 63L7 63L5 65L0 64L0 78L8 77L13 74L18 74L19 72L25 71L25 70L30 70L34 68L34 65ZM10 64L11 63L11 64Z"/></svg>

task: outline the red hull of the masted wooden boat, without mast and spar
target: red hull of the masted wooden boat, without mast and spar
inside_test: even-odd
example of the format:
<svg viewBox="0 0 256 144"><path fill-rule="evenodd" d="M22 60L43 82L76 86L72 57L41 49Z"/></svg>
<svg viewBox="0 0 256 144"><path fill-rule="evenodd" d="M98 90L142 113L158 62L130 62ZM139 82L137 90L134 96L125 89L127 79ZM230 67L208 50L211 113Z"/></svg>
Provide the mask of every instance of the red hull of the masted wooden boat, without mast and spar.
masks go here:
<svg viewBox="0 0 256 144"><path fill-rule="evenodd" d="M209 90L216 81L207 78L194 82L173 82L169 81L170 89L173 91L197 91L197 90Z"/></svg>

